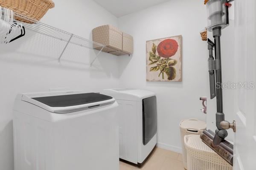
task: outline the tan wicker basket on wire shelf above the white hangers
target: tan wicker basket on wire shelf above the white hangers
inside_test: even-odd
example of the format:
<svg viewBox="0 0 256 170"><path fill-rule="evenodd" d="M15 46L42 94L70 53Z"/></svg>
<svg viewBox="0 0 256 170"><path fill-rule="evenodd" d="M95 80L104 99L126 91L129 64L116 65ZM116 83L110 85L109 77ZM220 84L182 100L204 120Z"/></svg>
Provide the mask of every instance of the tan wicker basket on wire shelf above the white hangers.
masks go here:
<svg viewBox="0 0 256 170"><path fill-rule="evenodd" d="M34 20L41 20L47 11L55 5L52 0L0 0L0 6L10 8ZM34 23L21 17L15 17L15 19L25 23Z"/></svg>

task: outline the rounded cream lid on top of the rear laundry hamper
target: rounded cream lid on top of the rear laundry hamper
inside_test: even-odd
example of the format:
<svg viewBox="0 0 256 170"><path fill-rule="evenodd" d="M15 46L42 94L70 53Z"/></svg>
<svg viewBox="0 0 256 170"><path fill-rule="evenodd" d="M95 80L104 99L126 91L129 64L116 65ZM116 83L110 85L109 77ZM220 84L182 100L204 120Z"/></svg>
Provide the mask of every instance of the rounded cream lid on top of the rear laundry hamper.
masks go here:
<svg viewBox="0 0 256 170"><path fill-rule="evenodd" d="M205 130L206 122L200 121L198 119L186 119L180 122L180 127L183 129L197 129Z"/></svg>

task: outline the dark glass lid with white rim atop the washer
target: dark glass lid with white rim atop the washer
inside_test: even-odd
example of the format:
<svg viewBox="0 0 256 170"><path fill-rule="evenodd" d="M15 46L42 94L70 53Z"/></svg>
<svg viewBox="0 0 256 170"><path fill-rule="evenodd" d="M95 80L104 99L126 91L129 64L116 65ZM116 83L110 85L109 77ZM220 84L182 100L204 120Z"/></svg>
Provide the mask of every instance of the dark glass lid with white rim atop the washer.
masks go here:
<svg viewBox="0 0 256 170"><path fill-rule="evenodd" d="M37 105L52 113L71 113L115 102L111 96L98 93L45 93L43 94L23 94L23 101Z"/></svg>

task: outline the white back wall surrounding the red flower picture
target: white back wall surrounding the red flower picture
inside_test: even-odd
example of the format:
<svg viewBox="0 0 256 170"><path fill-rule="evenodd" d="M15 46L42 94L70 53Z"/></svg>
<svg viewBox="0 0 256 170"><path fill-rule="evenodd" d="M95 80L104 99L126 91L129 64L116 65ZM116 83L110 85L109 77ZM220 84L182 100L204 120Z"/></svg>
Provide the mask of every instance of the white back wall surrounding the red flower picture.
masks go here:
<svg viewBox="0 0 256 170"><path fill-rule="evenodd" d="M208 96L208 51L199 32L207 26L201 0L171 0L118 19L119 28L134 36L134 54L120 62L120 86L157 93L158 143L180 151L179 122L206 121L200 96ZM145 42L175 35L183 37L183 81L146 82Z"/></svg>

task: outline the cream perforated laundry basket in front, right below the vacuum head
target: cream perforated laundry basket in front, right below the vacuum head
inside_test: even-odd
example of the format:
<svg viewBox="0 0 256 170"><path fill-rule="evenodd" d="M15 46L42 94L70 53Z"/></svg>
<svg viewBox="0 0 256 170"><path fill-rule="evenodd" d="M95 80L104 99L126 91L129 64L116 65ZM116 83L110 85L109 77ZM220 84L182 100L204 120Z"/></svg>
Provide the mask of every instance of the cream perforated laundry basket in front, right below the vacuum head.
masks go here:
<svg viewBox="0 0 256 170"><path fill-rule="evenodd" d="M233 167L202 142L199 135L184 137L188 170L233 170Z"/></svg>

